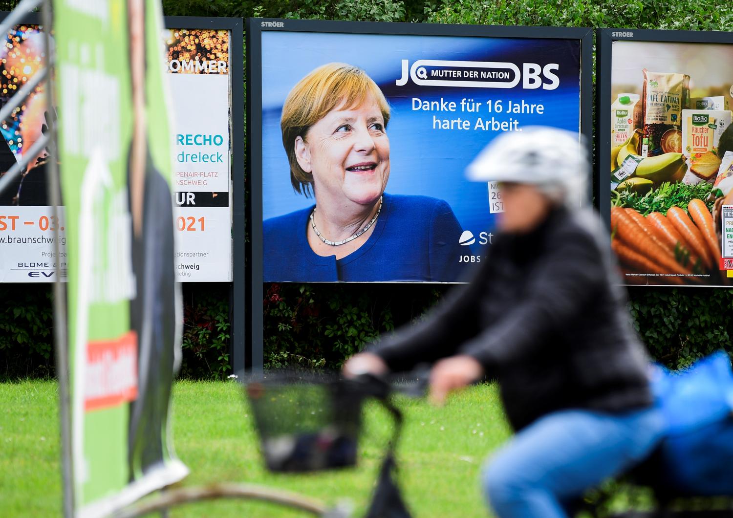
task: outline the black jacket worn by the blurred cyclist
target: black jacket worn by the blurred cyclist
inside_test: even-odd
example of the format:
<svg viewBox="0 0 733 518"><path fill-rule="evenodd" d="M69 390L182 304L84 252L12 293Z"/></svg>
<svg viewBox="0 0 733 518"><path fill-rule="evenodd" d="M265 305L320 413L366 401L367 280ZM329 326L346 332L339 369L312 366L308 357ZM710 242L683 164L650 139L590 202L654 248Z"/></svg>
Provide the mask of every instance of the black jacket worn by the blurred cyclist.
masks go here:
<svg viewBox="0 0 733 518"><path fill-rule="evenodd" d="M529 234L499 234L470 284L372 352L393 371L473 356L515 429L553 410L648 406L647 357L600 228L591 212L556 209Z"/></svg>

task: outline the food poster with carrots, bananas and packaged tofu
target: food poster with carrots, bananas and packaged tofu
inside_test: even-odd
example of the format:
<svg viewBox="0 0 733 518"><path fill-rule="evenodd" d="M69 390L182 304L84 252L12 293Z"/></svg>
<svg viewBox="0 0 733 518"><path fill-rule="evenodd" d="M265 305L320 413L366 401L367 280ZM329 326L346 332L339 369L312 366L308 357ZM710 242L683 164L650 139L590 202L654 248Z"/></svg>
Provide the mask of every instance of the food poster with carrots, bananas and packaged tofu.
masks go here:
<svg viewBox="0 0 733 518"><path fill-rule="evenodd" d="M611 243L626 284L729 284L733 45L611 46ZM608 80L608 79L605 79Z"/></svg>

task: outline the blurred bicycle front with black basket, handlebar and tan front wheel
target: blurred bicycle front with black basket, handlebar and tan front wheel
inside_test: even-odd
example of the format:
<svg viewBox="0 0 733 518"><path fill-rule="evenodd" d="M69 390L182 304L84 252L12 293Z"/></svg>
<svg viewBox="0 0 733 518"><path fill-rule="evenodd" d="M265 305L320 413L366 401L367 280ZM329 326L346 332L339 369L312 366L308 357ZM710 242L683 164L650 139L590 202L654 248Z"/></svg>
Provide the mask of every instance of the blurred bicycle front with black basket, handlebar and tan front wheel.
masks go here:
<svg viewBox="0 0 733 518"><path fill-rule="evenodd" d="M246 399L254 417L265 465L273 472L305 473L356 465L361 409L376 399L394 420L394 429L377 475L377 486L365 518L409 518L394 479L394 448L402 433L402 412L391 402L393 393L419 396L427 387L422 371L411 376L378 378L369 374L345 380L314 373L278 373L251 378ZM243 498L286 506L322 518L348 518L351 506L328 506L310 497L255 484L210 484L168 489L137 503L115 518L165 513L172 506L216 498Z"/></svg>

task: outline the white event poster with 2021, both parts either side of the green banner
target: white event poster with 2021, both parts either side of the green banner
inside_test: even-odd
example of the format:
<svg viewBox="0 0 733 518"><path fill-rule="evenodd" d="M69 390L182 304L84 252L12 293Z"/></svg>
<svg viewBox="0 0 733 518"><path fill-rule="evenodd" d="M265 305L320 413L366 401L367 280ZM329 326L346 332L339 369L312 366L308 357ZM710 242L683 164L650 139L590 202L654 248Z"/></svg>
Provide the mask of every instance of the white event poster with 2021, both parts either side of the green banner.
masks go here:
<svg viewBox="0 0 733 518"><path fill-rule="evenodd" d="M166 70L174 106L177 281L232 281L231 103L229 32L166 29ZM0 106L29 81L43 59L38 26L16 26L0 46ZM43 83L0 122L0 175L45 130ZM46 200L44 151L0 193L0 282L49 282L56 275L54 231L65 221ZM65 275L64 257L62 275ZM62 278L65 280L65 278Z"/></svg>

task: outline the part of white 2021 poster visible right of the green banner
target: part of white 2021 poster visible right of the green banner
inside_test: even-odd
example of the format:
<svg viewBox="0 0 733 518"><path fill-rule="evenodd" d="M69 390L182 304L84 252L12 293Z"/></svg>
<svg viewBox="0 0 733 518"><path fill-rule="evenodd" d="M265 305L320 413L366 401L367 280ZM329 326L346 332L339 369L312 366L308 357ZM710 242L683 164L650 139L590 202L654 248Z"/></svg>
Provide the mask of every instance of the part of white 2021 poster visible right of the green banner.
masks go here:
<svg viewBox="0 0 733 518"><path fill-rule="evenodd" d="M166 30L178 281L232 281L229 31ZM205 100L200 102L199 100Z"/></svg>

